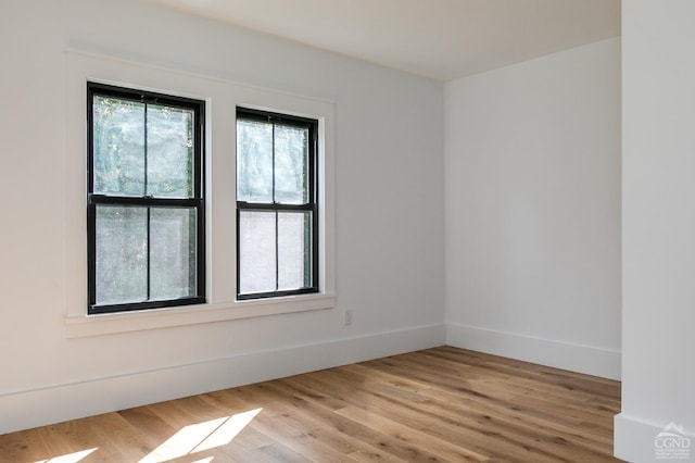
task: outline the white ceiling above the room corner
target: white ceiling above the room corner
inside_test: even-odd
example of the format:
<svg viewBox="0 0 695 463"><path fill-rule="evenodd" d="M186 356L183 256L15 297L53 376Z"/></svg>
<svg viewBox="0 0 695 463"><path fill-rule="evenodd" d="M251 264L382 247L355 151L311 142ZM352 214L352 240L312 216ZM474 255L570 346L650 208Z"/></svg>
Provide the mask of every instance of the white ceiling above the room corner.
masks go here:
<svg viewBox="0 0 695 463"><path fill-rule="evenodd" d="M438 80L620 35L620 0L149 0Z"/></svg>

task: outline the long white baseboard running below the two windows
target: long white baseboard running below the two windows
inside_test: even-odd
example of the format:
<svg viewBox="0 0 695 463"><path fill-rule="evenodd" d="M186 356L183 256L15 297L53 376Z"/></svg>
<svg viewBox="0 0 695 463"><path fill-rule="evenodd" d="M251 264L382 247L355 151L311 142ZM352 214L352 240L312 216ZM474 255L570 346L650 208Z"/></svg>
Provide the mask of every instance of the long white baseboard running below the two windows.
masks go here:
<svg viewBox="0 0 695 463"><path fill-rule="evenodd" d="M394 355L444 343L428 325L0 396L0 434Z"/></svg>

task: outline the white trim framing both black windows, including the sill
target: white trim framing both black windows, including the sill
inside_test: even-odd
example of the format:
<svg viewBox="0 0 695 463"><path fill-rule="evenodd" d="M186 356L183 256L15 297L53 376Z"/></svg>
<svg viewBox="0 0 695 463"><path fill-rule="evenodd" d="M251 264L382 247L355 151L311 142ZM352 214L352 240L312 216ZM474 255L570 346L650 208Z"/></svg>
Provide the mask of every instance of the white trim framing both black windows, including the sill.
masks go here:
<svg viewBox="0 0 695 463"><path fill-rule="evenodd" d="M68 338L255 316L332 309L336 305L334 113L320 98L150 66L110 57L65 51L66 71L66 272ZM207 303L87 315L86 89L87 82L118 85L206 101ZM236 300L236 109L256 108L319 121L319 292Z"/></svg>

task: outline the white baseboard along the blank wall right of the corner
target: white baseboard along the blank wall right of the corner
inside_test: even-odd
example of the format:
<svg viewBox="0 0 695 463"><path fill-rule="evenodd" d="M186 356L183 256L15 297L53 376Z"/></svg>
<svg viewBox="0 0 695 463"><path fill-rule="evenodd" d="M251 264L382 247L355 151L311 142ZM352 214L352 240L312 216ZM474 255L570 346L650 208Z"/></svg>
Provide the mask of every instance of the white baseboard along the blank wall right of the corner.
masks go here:
<svg viewBox="0 0 695 463"><path fill-rule="evenodd" d="M620 352L477 326L446 324L446 345L620 379Z"/></svg>

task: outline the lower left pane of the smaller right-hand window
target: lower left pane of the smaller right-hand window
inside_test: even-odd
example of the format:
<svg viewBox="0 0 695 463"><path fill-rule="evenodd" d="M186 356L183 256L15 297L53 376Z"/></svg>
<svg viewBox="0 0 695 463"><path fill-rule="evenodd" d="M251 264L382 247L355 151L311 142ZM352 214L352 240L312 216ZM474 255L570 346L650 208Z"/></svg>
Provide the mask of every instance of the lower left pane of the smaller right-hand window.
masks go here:
<svg viewBox="0 0 695 463"><path fill-rule="evenodd" d="M239 292L275 291L275 212L241 211L239 221Z"/></svg>

